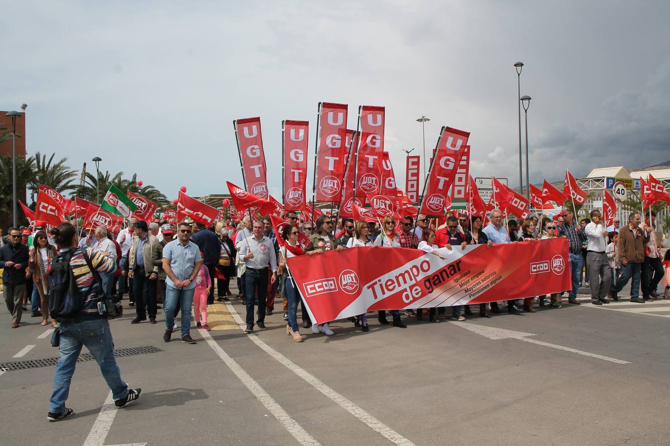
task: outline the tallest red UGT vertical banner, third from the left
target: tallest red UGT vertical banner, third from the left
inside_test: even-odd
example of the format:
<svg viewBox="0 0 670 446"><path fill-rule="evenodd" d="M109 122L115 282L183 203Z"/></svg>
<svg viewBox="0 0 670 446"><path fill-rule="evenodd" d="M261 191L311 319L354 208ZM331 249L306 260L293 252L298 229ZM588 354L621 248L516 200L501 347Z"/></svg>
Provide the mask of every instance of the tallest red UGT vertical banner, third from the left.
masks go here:
<svg viewBox="0 0 670 446"><path fill-rule="evenodd" d="M319 128L316 144L316 199L339 203L347 147L346 104L319 103Z"/></svg>

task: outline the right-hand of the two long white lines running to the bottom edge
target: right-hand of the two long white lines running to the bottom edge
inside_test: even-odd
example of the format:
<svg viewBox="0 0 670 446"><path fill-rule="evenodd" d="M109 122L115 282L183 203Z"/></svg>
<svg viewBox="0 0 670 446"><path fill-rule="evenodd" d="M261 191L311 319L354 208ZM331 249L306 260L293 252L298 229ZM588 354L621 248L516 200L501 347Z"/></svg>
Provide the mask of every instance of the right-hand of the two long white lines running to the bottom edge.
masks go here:
<svg viewBox="0 0 670 446"><path fill-rule="evenodd" d="M232 307L228 302L226 302L226 307L228 307L228 311L232 315L232 317L235 319L235 322L239 324L240 328L244 330L244 328L247 326L242 318L240 318L240 315L237 314L237 311L235 311L235 308ZM257 346L262 348L267 354L275 358L277 361L279 361L281 364L286 366L291 372L297 374L300 378L308 382L308 384L314 386L316 390L320 391L322 394L324 394L326 397L337 403L342 409L353 415L358 419L358 421L361 421L364 423L367 427L370 429L373 429L373 431L381 434L383 437L385 437L387 440L391 441L391 443L395 443L396 445L405 445L405 446L413 446L414 443L361 409L360 407L356 406L354 403L334 391L332 388L328 387L326 384L321 382L316 376L312 375L310 372L304 370L303 368L297 366L289 358L284 356L283 354L277 352L274 348L271 346L265 344L256 334L249 333L247 334L249 336L249 339L251 339Z"/></svg>

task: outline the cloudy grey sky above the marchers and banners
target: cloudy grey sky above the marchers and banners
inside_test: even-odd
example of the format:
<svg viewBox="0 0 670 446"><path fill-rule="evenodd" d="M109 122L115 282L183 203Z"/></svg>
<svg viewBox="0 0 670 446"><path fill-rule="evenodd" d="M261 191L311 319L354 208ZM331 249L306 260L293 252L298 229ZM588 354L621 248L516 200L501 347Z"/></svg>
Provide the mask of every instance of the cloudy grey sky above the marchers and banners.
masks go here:
<svg viewBox="0 0 670 446"><path fill-rule="evenodd" d="M472 175L517 186L517 60L531 181L670 159L669 21L667 1L5 2L0 109L29 104L29 153L100 156L169 198L241 184L232 120L251 116L279 197L281 120L314 136L320 101L350 128L386 107L401 187L421 115L428 151L468 130Z"/></svg>

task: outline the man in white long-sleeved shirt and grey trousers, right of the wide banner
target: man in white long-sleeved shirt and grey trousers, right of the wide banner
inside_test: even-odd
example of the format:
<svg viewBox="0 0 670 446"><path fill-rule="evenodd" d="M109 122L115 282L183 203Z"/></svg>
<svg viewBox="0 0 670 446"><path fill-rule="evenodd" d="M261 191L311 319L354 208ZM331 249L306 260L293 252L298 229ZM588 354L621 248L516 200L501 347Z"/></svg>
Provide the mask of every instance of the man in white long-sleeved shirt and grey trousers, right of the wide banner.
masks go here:
<svg viewBox="0 0 670 446"><path fill-rule="evenodd" d="M586 263L591 285L591 303L594 305L609 304L607 294L610 292L612 272L607 260L607 230L602 226L600 211L591 211L591 223L584 227L586 233Z"/></svg>

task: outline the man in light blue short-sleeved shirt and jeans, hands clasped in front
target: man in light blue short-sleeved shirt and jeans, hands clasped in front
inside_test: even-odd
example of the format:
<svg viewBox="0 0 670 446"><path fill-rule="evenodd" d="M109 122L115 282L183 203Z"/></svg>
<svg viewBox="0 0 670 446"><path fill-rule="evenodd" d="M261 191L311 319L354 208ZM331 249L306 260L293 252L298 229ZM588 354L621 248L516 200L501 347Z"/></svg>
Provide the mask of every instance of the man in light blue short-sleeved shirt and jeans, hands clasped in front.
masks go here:
<svg viewBox="0 0 670 446"><path fill-rule="evenodd" d="M195 344L190 334L191 306L196 288L196 276L202 265L198 245L189 240L191 225L180 223L178 239L163 247L163 271L165 271L165 334L163 340L170 342L174 327L174 309L182 309L182 341Z"/></svg>

